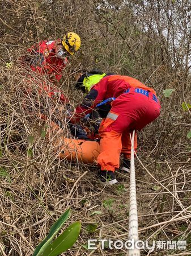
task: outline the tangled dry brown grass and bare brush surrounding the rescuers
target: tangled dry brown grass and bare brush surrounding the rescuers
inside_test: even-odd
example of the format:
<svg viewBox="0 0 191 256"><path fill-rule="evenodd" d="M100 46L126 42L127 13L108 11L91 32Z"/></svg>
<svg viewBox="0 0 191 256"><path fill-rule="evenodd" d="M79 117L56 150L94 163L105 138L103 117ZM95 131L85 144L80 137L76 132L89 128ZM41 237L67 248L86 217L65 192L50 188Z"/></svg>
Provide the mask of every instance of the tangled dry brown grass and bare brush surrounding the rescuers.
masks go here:
<svg viewBox="0 0 191 256"><path fill-rule="evenodd" d="M82 38L80 52L70 60L59 84L71 105L82 99L73 77L87 68L133 76L156 90L162 113L139 134L140 161L135 160L139 238L186 240L186 251L155 250L150 255L190 255L191 150L186 138L190 113L181 106L190 103L189 1L147 1L144 5L132 0L122 7L122 1L109 1L111 9L103 1L0 3L0 255L31 255L69 207L66 225L80 220L82 232L65 255L90 255L81 246L88 238L128 239L129 176L118 171L122 186L104 188L96 179L95 167L57 159L55 138L43 138L42 131L50 120L59 119L63 135L70 136L65 106L62 114L57 112L58 100L40 94L38 82L26 80L32 76L41 82L41 78L16 64L28 46L69 30ZM168 32L166 38L164 32ZM6 63L14 65L9 68ZM170 98L163 96L167 88L175 89ZM46 122L41 113L48 117ZM101 214L91 216L94 210ZM98 224L92 234L84 230L90 222ZM93 253L126 254L100 249Z"/></svg>

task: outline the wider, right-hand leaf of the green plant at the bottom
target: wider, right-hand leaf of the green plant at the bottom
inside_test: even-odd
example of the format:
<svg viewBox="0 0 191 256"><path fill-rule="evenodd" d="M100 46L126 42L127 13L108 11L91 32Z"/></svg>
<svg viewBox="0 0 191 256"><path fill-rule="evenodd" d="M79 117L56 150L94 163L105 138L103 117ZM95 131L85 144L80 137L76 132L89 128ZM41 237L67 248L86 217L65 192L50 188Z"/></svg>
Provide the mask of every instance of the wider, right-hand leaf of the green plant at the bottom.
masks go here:
<svg viewBox="0 0 191 256"><path fill-rule="evenodd" d="M77 241L79 232L81 228L81 223L79 221L74 222L67 228L57 239L49 243L46 249L43 251L41 256L57 256L67 249L71 248L75 241Z"/></svg>

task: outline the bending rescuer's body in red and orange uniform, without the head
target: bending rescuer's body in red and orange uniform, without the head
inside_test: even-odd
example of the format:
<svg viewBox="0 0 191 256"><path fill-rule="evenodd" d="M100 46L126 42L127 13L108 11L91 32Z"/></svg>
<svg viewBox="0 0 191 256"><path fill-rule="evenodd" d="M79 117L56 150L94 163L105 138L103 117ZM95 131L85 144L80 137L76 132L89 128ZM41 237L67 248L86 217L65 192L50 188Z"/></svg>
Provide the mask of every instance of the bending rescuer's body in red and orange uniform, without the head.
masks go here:
<svg viewBox="0 0 191 256"><path fill-rule="evenodd" d="M99 128L100 154L97 157L99 178L107 184L117 183L114 171L120 167L120 154L124 155L122 170L129 171L129 134L133 130L141 131L160 114L160 104L153 89L132 77L112 75L92 86L82 104L77 106L75 118L79 121L91 113L99 102L111 97L116 99L111 103L111 110ZM134 149L137 151L137 133Z"/></svg>

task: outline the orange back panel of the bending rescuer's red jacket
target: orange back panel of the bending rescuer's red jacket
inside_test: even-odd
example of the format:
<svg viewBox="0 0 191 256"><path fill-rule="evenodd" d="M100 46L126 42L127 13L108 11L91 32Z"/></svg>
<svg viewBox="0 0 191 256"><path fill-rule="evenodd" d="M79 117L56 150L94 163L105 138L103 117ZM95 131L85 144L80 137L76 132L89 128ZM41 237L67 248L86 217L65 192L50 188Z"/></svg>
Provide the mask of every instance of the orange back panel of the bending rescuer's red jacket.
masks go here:
<svg viewBox="0 0 191 256"><path fill-rule="evenodd" d="M125 82L128 82L130 87L136 87L136 88L141 88L144 90L148 90L149 92L152 92L156 95L156 92L154 89L147 87L146 85L142 84L137 79L134 79L133 77L130 76L120 76L120 75L113 75L113 76L108 76L108 82L109 81L114 81L114 80L124 80Z"/></svg>

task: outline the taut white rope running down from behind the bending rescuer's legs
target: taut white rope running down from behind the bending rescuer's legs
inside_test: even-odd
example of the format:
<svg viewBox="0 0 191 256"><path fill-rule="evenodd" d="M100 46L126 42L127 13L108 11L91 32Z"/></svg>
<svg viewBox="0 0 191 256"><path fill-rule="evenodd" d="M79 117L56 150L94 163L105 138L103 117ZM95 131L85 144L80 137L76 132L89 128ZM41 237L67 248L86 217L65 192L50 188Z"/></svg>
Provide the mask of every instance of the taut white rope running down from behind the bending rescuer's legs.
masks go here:
<svg viewBox="0 0 191 256"><path fill-rule="evenodd" d="M136 199L136 183L135 183L135 164L134 164L134 135L131 138L131 167L130 167L130 193L129 193L129 240L136 241L138 238L138 217L137 217L137 199ZM131 135L130 135L131 137ZM129 256L139 256L139 249L130 249Z"/></svg>

